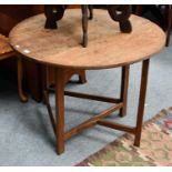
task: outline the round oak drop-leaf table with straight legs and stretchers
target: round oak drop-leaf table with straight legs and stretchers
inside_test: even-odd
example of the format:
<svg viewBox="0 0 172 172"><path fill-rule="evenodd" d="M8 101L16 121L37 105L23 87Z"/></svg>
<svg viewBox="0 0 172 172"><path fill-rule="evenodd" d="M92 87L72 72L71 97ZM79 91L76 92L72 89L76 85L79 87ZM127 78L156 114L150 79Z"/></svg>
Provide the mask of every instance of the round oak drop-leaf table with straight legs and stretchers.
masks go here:
<svg viewBox="0 0 172 172"><path fill-rule="evenodd" d="M152 54L159 52L165 43L164 32L151 21L131 16L131 33L121 33L118 23L103 10L94 10L93 20L89 21L89 45L82 48L80 36L80 11L67 10L58 30L44 29L43 14L31 17L16 26L10 32L12 48L24 58L55 67L55 120L52 114L57 136L57 152L64 151L64 142L72 135L100 124L125 131L135 135L134 145L140 145L144 102L148 83L149 62ZM135 127L104 120L115 110L124 115L130 64L142 61L140 98ZM119 99L64 91L64 77L68 70L100 70L122 67L121 97ZM91 99L113 103L94 118L64 131L64 95ZM48 109L51 112L49 102Z"/></svg>

